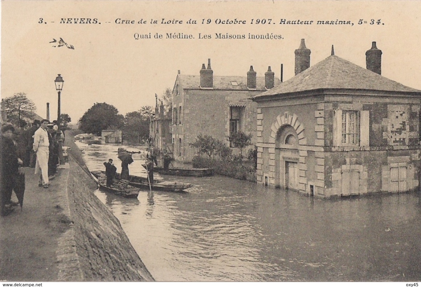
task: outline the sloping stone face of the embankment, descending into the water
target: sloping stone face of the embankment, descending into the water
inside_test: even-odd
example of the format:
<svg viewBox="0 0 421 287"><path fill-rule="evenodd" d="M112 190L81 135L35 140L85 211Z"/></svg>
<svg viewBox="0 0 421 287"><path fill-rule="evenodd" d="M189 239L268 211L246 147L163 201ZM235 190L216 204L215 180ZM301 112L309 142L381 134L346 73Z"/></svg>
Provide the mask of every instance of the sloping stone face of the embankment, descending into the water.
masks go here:
<svg viewBox="0 0 421 287"><path fill-rule="evenodd" d="M118 219L93 194L96 183L80 162L73 138L67 138L71 156L64 214L71 223L59 239L59 280L154 281Z"/></svg>

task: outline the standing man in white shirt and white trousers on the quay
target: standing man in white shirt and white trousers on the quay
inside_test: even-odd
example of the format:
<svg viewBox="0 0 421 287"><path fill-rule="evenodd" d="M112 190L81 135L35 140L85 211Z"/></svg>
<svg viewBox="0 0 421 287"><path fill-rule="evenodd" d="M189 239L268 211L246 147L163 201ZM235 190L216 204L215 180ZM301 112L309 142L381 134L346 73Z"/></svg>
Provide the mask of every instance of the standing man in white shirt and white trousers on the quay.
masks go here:
<svg viewBox="0 0 421 287"><path fill-rule="evenodd" d="M41 169L40 181L38 186L44 186L48 189L48 154L50 141L48 140L47 125L48 120L42 120L41 126L34 134L33 149L37 153L37 161L35 164L35 174Z"/></svg>

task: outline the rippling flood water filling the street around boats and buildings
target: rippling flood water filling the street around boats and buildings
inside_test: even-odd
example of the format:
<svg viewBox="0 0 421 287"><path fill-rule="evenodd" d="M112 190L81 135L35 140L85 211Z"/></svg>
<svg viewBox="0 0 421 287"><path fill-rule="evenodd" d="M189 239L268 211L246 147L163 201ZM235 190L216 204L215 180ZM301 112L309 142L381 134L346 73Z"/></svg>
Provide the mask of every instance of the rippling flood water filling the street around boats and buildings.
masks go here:
<svg viewBox="0 0 421 287"><path fill-rule="evenodd" d="M116 145L84 149L91 170ZM128 147L129 150L137 150ZM140 154L131 174L146 175ZM157 281L420 281L417 193L320 200L223 176L169 177L185 193L96 196Z"/></svg>

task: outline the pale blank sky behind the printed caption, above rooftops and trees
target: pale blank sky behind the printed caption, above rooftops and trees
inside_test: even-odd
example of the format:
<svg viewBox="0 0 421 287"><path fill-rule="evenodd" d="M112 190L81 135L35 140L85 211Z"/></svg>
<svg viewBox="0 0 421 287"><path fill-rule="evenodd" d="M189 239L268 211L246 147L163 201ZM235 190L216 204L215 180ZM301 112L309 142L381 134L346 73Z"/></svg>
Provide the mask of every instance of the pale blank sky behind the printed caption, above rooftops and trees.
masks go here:
<svg viewBox="0 0 421 287"><path fill-rule="evenodd" d="M61 112L69 114L73 124L97 102L111 104L123 115L155 106L155 93L160 96L166 88L173 89L178 70L199 75L208 58L217 76L246 76L253 65L257 76L264 76L271 66L280 77L283 64L283 80L288 80L294 75L294 50L302 38L311 50L311 65L330 56L334 45L335 55L365 67L365 51L376 41L383 52L382 75L421 90L420 1L3 0L1 6L1 98L26 93L41 117L46 117L49 102L50 118L55 119L54 79L61 74ZM98 23L60 23L69 18ZM117 24L123 22L117 19L135 23ZM171 23L162 24L162 19ZM197 24L188 24L189 19ZM234 19L246 24L223 24ZM256 24L257 19L261 23ZM281 19L314 23L288 25L280 24ZM315 23L337 19L354 25ZM360 19L367 23L358 24ZM140 20L147 23L138 24ZM175 20L183 23L174 24ZM151 33L152 39L136 40L135 33ZM163 38L155 39L155 33ZM195 38L166 39L166 33ZM211 39L199 39L199 33ZM216 39L217 33L246 39ZM250 40L248 33L282 39ZM53 47L57 43L50 42L60 37L74 49Z"/></svg>

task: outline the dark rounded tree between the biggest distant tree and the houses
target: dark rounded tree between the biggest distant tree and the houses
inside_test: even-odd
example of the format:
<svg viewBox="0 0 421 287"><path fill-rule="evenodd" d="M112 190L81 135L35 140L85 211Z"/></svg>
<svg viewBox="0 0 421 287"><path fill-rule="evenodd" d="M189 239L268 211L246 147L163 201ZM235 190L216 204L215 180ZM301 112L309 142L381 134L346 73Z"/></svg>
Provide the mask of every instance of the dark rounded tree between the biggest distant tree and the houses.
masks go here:
<svg viewBox="0 0 421 287"><path fill-rule="evenodd" d="M123 136L126 141L139 143L149 137L149 117L140 112L130 112L124 117Z"/></svg>

